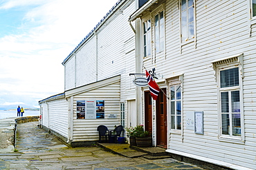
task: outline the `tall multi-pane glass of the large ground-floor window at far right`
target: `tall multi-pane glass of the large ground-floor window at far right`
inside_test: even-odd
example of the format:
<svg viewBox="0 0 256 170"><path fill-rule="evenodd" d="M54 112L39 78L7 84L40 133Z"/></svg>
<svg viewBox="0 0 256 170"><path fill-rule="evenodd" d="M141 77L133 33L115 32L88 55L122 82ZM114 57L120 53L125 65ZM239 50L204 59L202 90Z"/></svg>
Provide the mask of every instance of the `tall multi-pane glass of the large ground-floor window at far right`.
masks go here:
<svg viewBox="0 0 256 170"><path fill-rule="evenodd" d="M241 136L239 67L220 70L221 135Z"/></svg>

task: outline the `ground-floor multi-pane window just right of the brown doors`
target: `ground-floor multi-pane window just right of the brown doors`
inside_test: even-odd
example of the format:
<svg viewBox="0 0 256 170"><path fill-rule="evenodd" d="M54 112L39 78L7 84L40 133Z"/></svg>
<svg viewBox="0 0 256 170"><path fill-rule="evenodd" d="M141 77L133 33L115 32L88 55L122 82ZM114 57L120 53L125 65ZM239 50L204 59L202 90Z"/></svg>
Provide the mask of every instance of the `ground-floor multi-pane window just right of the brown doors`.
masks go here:
<svg viewBox="0 0 256 170"><path fill-rule="evenodd" d="M171 129L181 129L181 85L170 86Z"/></svg>

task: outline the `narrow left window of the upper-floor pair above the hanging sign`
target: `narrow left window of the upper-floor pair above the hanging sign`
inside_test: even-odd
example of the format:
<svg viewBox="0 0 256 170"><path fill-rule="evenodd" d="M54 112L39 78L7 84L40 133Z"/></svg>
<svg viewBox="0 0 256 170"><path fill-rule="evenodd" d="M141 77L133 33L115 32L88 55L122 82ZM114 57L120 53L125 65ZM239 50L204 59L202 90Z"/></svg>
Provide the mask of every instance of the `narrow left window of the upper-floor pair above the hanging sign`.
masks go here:
<svg viewBox="0 0 256 170"><path fill-rule="evenodd" d="M150 19L143 23L143 55L151 55L151 21Z"/></svg>

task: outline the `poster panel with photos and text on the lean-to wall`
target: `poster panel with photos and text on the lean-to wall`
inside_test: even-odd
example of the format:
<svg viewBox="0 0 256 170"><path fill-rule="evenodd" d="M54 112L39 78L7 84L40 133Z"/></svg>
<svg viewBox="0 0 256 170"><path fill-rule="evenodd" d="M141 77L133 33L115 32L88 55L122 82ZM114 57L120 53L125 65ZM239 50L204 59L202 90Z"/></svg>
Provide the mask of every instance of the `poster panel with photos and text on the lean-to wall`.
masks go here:
<svg viewBox="0 0 256 170"><path fill-rule="evenodd" d="M104 118L104 100L77 100L77 119Z"/></svg>

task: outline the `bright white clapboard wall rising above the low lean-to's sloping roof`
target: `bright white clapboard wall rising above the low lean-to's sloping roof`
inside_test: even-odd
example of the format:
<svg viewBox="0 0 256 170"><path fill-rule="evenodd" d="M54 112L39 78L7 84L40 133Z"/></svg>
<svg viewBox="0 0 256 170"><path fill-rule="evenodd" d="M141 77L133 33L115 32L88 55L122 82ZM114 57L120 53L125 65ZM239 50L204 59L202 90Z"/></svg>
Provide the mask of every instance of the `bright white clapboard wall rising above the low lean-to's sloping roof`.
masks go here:
<svg viewBox="0 0 256 170"><path fill-rule="evenodd" d="M135 98L133 77L127 76L135 72L134 32L127 22L135 2L123 1L119 8L64 64L66 90L121 74L122 100Z"/></svg>

